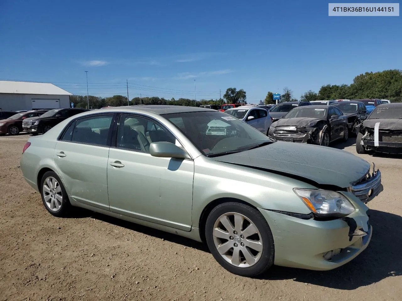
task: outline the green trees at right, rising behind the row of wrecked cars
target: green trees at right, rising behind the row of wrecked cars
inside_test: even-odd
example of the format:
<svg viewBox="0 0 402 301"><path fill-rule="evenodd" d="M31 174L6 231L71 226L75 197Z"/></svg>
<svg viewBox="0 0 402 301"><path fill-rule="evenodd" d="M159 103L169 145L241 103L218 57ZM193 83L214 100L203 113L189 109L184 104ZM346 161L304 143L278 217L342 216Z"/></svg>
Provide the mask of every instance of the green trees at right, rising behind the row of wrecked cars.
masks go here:
<svg viewBox="0 0 402 301"><path fill-rule="evenodd" d="M265 104L274 104L273 93L268 92ZM334 99L388 99L391 102L402 102L402 70L392 69L381 72L366 72L357 75L350 85L323 85L318 93L308 90L300 96L301 101L334 100ZM297 100L293 92L285 87L281 102Z"/></svg>

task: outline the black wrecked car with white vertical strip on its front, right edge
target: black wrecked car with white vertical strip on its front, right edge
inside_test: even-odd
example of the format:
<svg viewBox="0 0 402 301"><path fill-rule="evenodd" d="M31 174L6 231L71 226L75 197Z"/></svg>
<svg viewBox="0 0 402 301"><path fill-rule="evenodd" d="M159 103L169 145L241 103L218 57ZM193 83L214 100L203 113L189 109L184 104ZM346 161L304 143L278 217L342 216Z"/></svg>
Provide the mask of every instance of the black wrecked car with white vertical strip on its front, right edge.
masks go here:
<svg viewBox="0 0 402 301"><path fill-rule="evenodd" d="M377 106L357 127L356 151L402 153L402 103Z"/></svg>

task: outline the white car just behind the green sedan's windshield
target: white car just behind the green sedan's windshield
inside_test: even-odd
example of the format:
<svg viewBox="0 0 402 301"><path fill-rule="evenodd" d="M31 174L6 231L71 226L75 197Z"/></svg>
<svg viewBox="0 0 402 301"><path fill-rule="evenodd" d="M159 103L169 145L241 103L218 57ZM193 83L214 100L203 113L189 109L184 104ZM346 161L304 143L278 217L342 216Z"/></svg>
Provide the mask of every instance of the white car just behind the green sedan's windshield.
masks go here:
<svg viewBox="0 0 402 301"><path fill-rule="evenodd" d="M241 106L228 109L225 113L246 122L246 124L268 135L269 126L272 124L272 118L267 109L255 106Z"/></svg>

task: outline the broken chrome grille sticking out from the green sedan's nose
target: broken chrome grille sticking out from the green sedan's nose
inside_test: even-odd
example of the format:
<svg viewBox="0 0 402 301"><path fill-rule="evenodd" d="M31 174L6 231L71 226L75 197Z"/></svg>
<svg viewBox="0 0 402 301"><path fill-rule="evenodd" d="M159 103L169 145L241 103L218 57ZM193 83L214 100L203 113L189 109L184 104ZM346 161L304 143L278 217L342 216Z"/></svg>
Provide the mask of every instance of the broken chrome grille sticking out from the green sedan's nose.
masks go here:
<svg viewBox="0 0 402 301"><path fill-rule="evenodd" d="M368 172L363 181L353 185L351 192L363 202L371 201L380 193L381 190L381 172L377 169L372 174Z"/></svg>

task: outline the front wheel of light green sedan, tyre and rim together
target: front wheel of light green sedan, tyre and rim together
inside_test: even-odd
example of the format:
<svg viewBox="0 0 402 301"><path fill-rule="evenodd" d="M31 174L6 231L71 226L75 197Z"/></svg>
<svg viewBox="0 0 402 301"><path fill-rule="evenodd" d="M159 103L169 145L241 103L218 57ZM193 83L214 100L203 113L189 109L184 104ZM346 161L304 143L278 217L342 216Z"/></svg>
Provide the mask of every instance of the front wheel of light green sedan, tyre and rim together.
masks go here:
<svg viewBox="0 0 402 301"><path fill-rule="evenodd" d="M215 260L233 274L254 277L273 264L271 229L263 215L249 205L217 205L207 218L205 238Z"/></svg>

